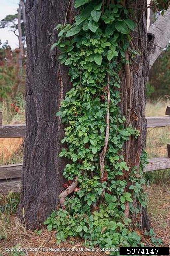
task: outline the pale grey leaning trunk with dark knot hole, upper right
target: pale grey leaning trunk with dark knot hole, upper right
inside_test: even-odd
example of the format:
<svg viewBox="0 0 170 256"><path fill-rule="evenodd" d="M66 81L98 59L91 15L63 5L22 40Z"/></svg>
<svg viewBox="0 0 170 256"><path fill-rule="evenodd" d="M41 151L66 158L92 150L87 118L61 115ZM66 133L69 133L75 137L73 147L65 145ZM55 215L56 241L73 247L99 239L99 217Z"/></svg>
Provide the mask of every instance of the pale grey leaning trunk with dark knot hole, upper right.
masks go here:
<svg viewBox="0 0 170 256"><path fill-rule="evenodd" d="M170 8L148 29L149 67L151 68L170 40Z"/></svg>

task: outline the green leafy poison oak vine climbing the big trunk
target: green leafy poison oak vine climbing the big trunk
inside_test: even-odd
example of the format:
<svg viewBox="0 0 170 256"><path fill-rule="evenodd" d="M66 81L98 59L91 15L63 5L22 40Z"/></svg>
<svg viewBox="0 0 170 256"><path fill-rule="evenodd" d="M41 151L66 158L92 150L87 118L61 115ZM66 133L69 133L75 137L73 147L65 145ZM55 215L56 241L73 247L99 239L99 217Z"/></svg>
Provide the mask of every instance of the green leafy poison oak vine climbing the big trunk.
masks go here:
<svg viewBox="0 0 170 256"><path fill-rule="evenodd" d="M123 145L139 131L125 127L119 107L121 70L130 83L128 52L135 23L123 5L111 1L76 0L75 7L80 8L75 23L58 25L59 40L52 46L60 49L59 60L69 67L72 83L57 113L66 124L62 143L67 144L59 156L72 163L63 172L68 182L60 194L61 208L45 224L57 229L58 243L80 236L90 246L141 246L129 225L130 216L140 213L133 202L146 206L146 153L139 168L129 169Z"/></svg>

